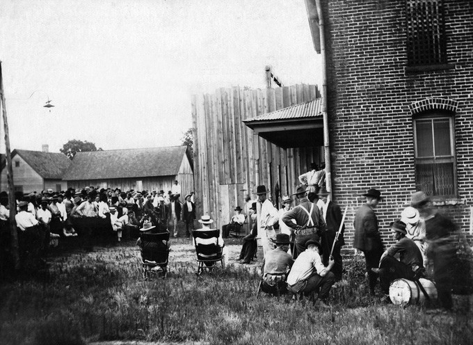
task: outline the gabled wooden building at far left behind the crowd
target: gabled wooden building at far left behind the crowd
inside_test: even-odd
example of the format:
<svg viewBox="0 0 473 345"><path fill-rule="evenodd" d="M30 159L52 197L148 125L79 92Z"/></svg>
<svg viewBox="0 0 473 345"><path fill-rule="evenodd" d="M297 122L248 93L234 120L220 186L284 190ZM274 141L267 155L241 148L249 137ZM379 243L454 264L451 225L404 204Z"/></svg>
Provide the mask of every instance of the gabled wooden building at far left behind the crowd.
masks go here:
<svg viewBox="0 0 473 345"><path fill-rule="evenodd" d="M41 152L29 150L13 150L13 184L15 192L38 193L43 189L52 188L53 191L64 191L67 183L63 180L63 173L71 165L63 153ZM0 188L6 191L6 166L1 165Z"/></svg>

